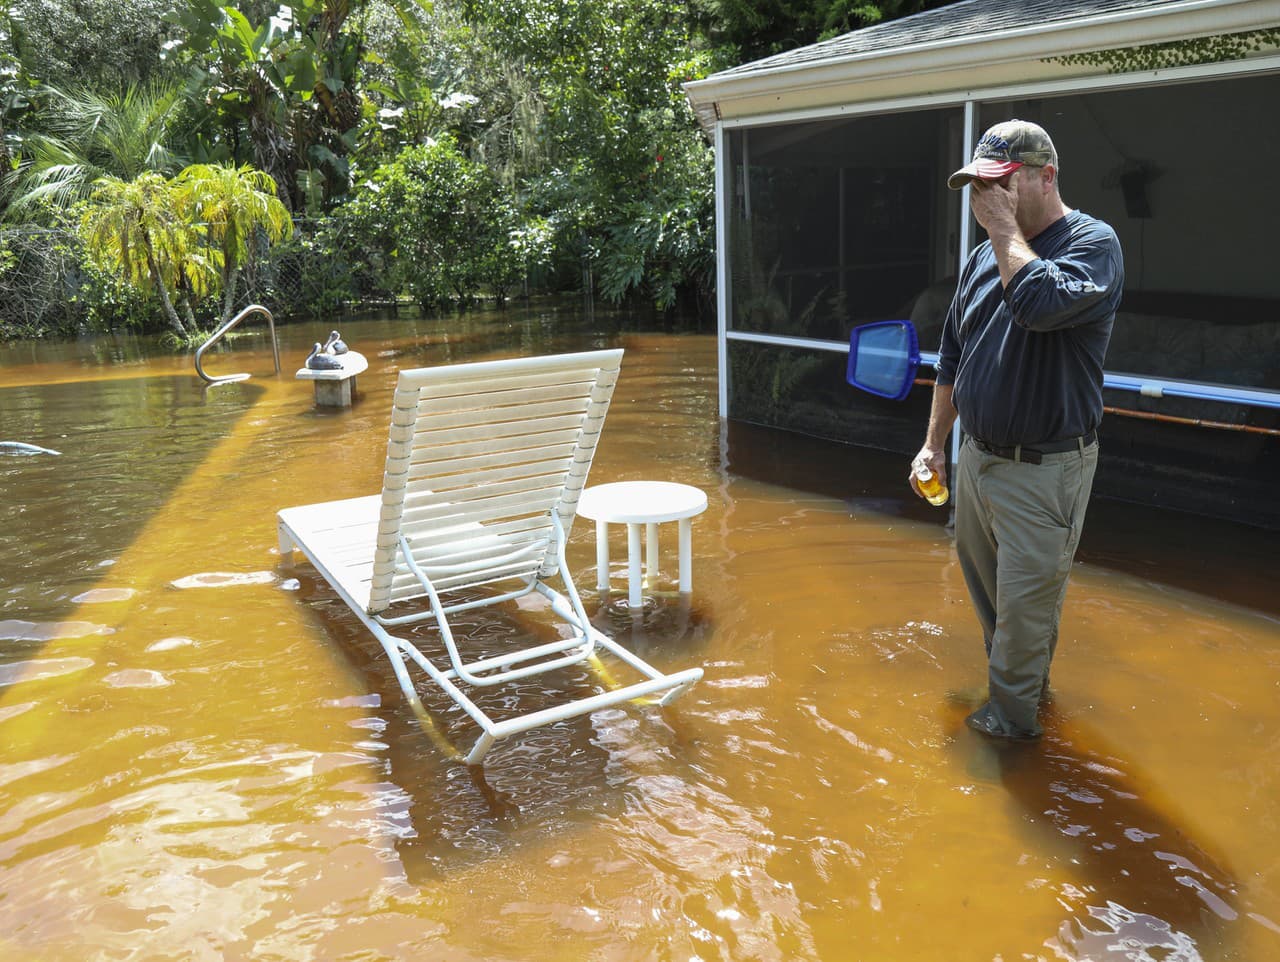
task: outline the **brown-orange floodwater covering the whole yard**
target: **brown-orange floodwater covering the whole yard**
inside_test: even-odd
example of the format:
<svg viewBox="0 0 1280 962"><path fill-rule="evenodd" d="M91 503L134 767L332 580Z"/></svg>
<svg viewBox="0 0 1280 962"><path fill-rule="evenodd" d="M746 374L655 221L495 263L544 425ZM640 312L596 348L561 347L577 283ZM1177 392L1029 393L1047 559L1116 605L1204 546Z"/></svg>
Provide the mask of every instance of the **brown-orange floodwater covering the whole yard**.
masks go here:
<svg viewBox="0 0 1280 962"><path fill-rule="evenodd" d="M1047 734L1001 748L963 725L946 512L897 455L723 425L714 338L549 306L339 326L370 368L335 413L292 376L320 322L280 329L280 376L261 336L209 357L256 375L207 390L146 342L0 348L0 441L61 452L0 453L0 958L1280 957L1272 535L1096 504ZM419 725L274 514L378 490L398 368L612 345L591 482L707 491L694 592L628 611L616 542L600 597L582 521L570 562L598 624L705 678L471 770L470 723L424 687Z"/></svg>

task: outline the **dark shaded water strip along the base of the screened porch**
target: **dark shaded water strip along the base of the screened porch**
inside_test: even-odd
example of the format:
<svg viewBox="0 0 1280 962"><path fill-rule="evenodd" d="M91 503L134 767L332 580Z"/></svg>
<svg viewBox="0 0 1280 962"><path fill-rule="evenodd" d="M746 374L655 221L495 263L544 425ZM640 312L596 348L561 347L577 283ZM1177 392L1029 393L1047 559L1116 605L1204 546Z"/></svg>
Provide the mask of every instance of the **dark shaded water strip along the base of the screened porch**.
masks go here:
<svg viewBox="0 0 1280 962"><path fill-rule="evenodd" d="M737 421L728 422L727 435L735 475L840 499L854 513L940 526L950 519L950 510L908 489L909 458L901 454ZM1076 559L1280 615L1275 542L1276 532L1263 528L1094 498Z"/></svg>

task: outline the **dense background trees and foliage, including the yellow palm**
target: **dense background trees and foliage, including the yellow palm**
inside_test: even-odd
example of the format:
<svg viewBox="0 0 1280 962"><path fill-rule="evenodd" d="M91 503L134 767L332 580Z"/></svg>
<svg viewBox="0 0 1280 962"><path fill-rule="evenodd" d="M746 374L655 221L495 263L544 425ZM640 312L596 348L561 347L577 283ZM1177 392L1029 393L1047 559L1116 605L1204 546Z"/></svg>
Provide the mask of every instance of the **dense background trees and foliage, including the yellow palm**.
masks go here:
<svg viewBox="0 0 1280 962"><path fill-rule="evenodd" d="M229 311L300 217L325 303L534 280L708 304L713 165L682 83L938 5L0 0L0 210L76 211L84 276L155 292L175 329L212 292Z"/></svg>

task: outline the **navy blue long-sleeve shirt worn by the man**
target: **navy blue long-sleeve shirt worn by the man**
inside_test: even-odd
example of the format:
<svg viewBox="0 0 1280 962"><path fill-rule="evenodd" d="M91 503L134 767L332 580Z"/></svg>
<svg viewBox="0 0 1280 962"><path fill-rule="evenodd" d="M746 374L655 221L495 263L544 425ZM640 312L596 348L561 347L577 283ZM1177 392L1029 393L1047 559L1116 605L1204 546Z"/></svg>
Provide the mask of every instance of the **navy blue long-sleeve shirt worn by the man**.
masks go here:
<svg viewBox="0 0 1280 962"><path fill-rule="evenodd" d="M965 264L942 329L937 382L965 431L993 444L1056 441L1102 421L1102 365L1124 289L1115 232L1071 211L1029 242L1005 289L991 242Z"/></svg>

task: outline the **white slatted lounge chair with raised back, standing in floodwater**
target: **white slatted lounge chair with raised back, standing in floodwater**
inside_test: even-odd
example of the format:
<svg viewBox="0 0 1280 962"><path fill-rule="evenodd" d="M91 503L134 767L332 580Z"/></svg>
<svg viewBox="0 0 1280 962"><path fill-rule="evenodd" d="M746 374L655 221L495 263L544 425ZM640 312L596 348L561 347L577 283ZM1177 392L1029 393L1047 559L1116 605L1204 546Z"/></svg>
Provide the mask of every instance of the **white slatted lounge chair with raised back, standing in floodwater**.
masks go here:
<svg viewBox="0 0 1280 962"><path fill-rule="evenodd" d="M468 764L499 738L618 702L666 705L701 678L666 674L588 620L564 541L617 382L621 351L401 371L383 493L279 512L280 553L296 545L374 633L406 698L417 664L480 725ZM564 594L545 583L559 576ZM568 638L467 661L448 615L538 591ZM434 620L429 658L388 629ZM604 649L644 678L497 722L461 684L493 686L593 659ZM447 664L445 664L447 663Z"/></svg>

